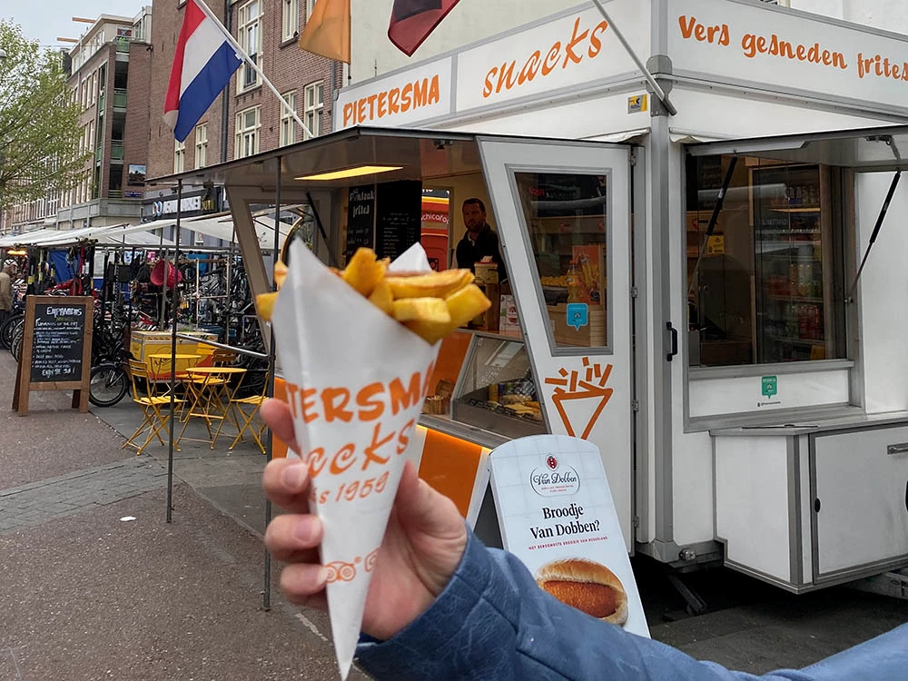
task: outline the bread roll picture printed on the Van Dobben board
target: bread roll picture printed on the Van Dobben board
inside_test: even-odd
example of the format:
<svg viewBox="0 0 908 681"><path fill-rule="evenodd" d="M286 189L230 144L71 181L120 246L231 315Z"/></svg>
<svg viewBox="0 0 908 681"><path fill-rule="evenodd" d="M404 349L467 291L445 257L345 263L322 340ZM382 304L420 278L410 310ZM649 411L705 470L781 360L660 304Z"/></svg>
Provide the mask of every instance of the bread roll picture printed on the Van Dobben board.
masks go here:
<svg viewBox="0 0 908 681"><path fill-rule="evenodd" d="M541 589L562 603L611 624L627 622L627 592L615 573L586 558L555 560L536 576Z"/></svg>

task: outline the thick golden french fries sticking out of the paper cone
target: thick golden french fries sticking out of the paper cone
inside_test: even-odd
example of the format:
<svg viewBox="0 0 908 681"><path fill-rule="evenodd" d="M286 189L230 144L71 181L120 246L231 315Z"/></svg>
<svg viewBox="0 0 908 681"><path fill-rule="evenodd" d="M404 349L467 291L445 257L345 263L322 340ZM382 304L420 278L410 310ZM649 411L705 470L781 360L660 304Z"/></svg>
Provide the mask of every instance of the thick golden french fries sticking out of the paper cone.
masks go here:
<svg viewBox="0 0 908 681"><path fill-rule="evenodd" d="M388 265L371 249L360 248L347 269L337 273L380 311L429 343L440 341L491 306L469 270L393 272ZM274 266L279 288L286 275L287 266L279 261ZM256 297L262 319L271 319L276 300L277 293Z"/></svg>

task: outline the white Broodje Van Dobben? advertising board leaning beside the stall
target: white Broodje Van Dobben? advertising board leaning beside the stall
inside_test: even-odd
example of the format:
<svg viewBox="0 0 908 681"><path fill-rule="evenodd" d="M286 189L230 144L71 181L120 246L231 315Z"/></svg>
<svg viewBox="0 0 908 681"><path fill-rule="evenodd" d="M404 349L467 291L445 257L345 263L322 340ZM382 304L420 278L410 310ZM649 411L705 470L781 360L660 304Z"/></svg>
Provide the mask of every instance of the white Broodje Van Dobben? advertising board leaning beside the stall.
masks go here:
<svg viewBox="0 0 908 681"><path fill-rule="evenodd" d="M511 440L489 460L504 548L555 597L564 597L558 588L564 580L574 581L575 594L608 589L614 600L587 607L587 614L648 637L597 446L564 435L539 435Z"/></svg>

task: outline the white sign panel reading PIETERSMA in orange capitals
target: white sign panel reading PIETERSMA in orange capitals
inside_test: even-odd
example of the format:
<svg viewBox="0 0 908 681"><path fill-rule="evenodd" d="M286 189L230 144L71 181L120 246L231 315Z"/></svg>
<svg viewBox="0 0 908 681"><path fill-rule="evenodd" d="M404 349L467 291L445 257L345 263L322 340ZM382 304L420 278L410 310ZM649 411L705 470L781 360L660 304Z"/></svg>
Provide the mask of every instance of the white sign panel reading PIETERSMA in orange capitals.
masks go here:
<svg viewBox="0 0 908 681"><path fill-rule="evenodd" d="M339 129L354 125L407 125L450 114L450 57L377 81L341 88L335 104Z"/></svg>

